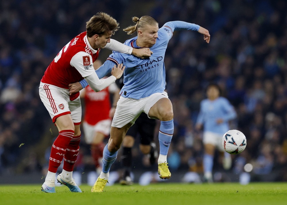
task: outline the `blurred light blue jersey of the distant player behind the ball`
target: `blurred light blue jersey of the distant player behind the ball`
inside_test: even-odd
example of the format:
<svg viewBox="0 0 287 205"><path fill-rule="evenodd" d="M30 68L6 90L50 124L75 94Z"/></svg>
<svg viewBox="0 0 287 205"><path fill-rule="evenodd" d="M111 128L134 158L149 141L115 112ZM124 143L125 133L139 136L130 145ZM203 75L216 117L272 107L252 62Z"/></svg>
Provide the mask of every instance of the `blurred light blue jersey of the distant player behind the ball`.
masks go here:
<svg viewBox="0 0 287 205"><path fill-rule="evenodd" d="M196 123L203 124L203 131L223 134L229 130L228 121L236 118L236 112L230 102L219 97L215 100L204 99L200 103L200 111ZM221 118L223 123L216 123Z"/></svg>

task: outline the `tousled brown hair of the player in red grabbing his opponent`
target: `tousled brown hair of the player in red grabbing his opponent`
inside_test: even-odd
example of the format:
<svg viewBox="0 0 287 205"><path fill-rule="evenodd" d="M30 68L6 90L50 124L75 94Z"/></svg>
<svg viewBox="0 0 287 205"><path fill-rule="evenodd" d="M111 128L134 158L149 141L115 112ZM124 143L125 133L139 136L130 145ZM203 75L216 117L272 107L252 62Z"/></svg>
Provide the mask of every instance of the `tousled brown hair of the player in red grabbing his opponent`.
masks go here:
<svg viewBox="0 0 287 205"><path fill-rule="evenodd" d="M92 37L95 34L115 34L119 29L119 23L110 15L104 12L98 12L86 22L87 36Z"/></svg>

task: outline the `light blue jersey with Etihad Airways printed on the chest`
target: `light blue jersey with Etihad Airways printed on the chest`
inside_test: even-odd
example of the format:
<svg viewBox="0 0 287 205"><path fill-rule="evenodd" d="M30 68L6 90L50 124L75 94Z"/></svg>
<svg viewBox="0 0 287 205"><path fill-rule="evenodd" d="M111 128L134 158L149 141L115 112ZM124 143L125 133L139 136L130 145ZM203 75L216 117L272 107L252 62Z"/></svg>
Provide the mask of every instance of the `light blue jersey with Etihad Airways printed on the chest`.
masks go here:
<svg viewBox="0 0 287 205"><path fill-rule="evenodd" d="M133 55L113 52L105 63L96 70L99 78L109 74L116 64L123 63L124 86L121 96L140 99L165 89L164 55L175 30L199 30L199 26L182 21L167 22L158 30L156 43L150 47L153 52L150 58L141 59ZM125 45L140 48L136 45L137 36L125 42Z"/></svg>

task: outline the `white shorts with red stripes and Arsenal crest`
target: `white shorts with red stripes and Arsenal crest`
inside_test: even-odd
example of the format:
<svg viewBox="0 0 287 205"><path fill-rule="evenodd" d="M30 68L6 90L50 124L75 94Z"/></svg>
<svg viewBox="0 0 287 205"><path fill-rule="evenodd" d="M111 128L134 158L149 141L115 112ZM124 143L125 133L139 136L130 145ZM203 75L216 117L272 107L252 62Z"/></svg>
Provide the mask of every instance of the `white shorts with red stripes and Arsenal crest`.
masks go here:
<svg viewBox="0 0 287 205"><path fill-rule="evenodd" d="M53 123L57 117L71 114L75 125L81 123L82 107L80 97L71 101L69 89L59 88L46 83L40 83L39 86L40 98L48 110Z"/></svg>

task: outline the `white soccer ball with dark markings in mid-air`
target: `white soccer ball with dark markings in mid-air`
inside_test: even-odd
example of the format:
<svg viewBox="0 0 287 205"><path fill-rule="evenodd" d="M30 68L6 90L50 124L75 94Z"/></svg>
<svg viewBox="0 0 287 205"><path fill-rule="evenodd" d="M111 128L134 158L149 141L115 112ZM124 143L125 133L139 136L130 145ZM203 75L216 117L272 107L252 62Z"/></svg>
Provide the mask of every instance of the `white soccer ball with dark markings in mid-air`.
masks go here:
<svg viewBox="0 0 287 205"><path fill-rule="evenodd" d="M236 129L227 131L222 137L222 147L229 154L239 154L246 148L245 135Z"/></svg>

